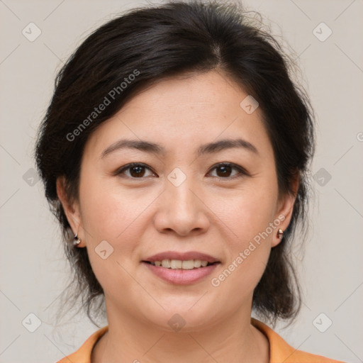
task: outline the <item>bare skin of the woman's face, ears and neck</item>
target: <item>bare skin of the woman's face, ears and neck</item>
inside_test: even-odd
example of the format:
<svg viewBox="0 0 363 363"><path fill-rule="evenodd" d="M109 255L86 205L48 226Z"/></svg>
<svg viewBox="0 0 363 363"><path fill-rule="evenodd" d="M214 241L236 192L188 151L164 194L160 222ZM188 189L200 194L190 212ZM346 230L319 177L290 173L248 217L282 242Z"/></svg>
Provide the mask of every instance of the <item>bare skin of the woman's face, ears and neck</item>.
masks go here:
<svg viewBox="0 0 363 363"><path fill-rule="evenodd" d="M250 323L252 294L269 252L291 220L295 197L278 199L274 152L257 108L247 114L247 94L216 70L164 79L128 101L87 140L79 201L70 204L63 180L57 191L74 233L86 247L105 292L109 330L92 352L92 363L269 362L269 342ZM165 155L122 149L101 158L121 138L162 145ZM197 148L222 139L243 138L258 155L229 148L197 157ZM140 162L150 169L114 175ZM230 162L248 174L216 164ZM168 179L178 167L186 180ZM136 174L136 176L135 176ZM237 177L234 177L237 175ZM297 181L294 184L297 188ZM239 252L269 223L284 221L219 286L211 285ZM106 259L95 252L102 240ZM174 285L152 274L141 260L157 252L199 251L220 264L201 281ZM237 292L237 293L236 293ZM184 328L168 320L178 313Z"/></svg>

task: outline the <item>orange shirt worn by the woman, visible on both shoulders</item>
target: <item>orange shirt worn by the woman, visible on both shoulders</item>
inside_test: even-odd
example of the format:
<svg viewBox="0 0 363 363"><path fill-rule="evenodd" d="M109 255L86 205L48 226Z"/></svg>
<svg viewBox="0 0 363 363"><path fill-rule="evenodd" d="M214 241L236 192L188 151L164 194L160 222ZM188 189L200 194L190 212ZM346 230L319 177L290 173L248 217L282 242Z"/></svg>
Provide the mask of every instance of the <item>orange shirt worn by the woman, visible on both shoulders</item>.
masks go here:
<svg viewBox="0 0 363 363"><path fill-rule="evenodd" d="M255 328L266 335L269 340L269 363L344 363L334 359L322 357L321 355L311 354L296 350L285 342L280 335L274 332L267 325L255 318L251 318L251 323ZM108 325L97 330L84 342L82 347L58 361L57 363L91 363L91 352L97 340L106 333Z"/></svg>

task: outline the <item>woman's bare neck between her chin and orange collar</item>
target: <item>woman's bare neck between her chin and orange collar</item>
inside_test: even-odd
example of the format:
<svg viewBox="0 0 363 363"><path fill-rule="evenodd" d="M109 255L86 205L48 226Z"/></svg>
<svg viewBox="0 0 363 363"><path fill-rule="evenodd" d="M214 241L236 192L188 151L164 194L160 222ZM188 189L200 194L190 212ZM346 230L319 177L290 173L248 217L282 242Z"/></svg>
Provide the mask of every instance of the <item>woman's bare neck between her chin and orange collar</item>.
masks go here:
<svg viewBox="0 0 363 363"><path fill-rule="evenodd" d="M94 347L91 363L258 362L269 363L269 342L240 311L228 320L178 332L141 322L129 314L109 314L108 332Z"/></svg>

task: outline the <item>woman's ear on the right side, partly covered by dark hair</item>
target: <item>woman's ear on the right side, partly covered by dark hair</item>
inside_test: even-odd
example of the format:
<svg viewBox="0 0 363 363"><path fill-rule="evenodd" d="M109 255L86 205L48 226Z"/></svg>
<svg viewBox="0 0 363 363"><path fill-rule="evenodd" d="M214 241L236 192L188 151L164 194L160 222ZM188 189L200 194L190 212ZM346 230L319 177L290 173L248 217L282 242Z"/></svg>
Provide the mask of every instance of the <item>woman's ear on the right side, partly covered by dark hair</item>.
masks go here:
<svg viewBox="0 0 363 363"><path fill-rule="evenodd" d="M275 247L279 244L279 242L281 242L281 238L277 237L278 230L279 229L286 230L286 228L289 226L292 217L292 212L294 211L294 204L298 192L298 185L299 185L299 172L296 172L294 180L292 182L293 194L288 193L282 196L278 203L277 213L275 215L274 220L281 220L281 223L277 225L277 227L274 229L274 235L272 236L271 247Z"/></svg>

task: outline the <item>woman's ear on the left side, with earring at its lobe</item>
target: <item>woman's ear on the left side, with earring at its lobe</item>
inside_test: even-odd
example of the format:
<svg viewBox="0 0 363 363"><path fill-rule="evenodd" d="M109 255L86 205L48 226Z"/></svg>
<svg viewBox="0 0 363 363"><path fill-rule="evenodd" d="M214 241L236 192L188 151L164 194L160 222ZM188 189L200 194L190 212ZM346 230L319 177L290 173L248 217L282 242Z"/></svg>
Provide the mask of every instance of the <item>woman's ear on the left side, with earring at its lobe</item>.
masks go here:
<svg viewBox="0 0 363 363"><path fill-rule="evenodd" d="M79 211L79 203L70 203L68 196L65 192L65 177L57 178L57 195L60 203L62 203L63 210L67 216L69 225L72 228L74 234L78 234L78 238L84 241L81 213ZM84 247L84 242L79 243L78 247Z"/></svg>

